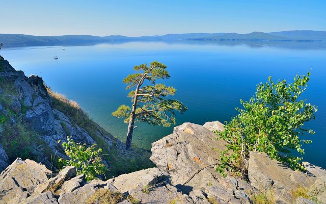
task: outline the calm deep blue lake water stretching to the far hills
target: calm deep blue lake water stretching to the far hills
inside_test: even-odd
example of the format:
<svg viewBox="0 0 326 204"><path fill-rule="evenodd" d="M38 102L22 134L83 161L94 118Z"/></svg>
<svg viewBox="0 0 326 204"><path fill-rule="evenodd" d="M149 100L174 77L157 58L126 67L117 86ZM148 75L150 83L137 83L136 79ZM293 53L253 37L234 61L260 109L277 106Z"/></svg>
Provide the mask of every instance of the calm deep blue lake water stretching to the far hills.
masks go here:
<svg viewBox="0 0 326 204"><path fill-rule="evenodd" d="M283 44L282 44L283 43ZM91 118L121 140L127 124L111 116L120 104L130 105L122 79L133 66L159 61L168 66L171 78L165 83L177 89L176 99L188 111L177 122L203 124L225 121L237 114L239 100L249 99L256 84L269 75L274 80L292 82L295 74L306 74L311 81L303 94L318 106L316 119L308 124L316 134L307 137L306 161L326 168L326 45L322 42L244 43L166 43L127 42L90 46L21 47L0 51L25 75L37 74L53 90L76 100ZM53 60L53 55L60 57ZM150 149L151 143L172 133L173 127L137 124L133 143Z"/></svg>

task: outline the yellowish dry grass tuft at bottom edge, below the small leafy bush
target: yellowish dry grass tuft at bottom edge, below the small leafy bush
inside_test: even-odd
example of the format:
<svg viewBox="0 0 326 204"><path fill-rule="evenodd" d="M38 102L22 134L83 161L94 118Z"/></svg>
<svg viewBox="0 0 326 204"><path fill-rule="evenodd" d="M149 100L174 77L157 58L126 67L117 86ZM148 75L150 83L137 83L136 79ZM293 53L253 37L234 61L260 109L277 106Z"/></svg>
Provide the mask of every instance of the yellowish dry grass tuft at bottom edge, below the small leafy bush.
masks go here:
<svg viewBox="0 0 326 204"><path fill-rule="evenodd" d="M88 204L116 204L124 199L120 192L111 193L108 189L98 189L88 200Z"/></svg>

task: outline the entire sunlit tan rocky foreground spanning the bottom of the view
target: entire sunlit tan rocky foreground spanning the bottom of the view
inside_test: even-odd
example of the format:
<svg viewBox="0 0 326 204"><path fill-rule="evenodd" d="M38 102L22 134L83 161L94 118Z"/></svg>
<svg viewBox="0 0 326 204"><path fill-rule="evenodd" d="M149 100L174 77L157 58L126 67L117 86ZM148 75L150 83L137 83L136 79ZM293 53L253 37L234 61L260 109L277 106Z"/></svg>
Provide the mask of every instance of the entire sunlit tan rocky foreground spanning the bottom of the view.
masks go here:
<svg viewBox="0 0 326 204"><path fill-rule="evenodd" d="M44 165L18 158L0 175L0 203L326 203L326 171L307 162L302 173L251 152L250 181L236 174L222 177L214 165L224 141L215 140L211 130L223 125L177 126L152 144L157 168L107 181L87 183L72 166L52 174Z"/></svg>

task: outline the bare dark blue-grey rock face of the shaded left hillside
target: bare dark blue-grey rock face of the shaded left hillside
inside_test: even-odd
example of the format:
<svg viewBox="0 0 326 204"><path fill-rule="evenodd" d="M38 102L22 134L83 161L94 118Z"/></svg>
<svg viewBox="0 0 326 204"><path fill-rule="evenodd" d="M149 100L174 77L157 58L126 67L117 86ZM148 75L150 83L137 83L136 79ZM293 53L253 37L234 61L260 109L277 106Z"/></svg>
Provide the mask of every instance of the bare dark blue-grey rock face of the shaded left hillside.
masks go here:
<svg viewBox="0 0 326 204"><path fill-rule="evenodd" d="M0 77L4 82L0 83L0 93L6 95L6 98L10 101L9 104L0 103L0 113L4 114L7 110L10 110L19 116L8 116L8 121L11 122L6 126L14 130L17 124L24 124L24 128L35 132L40 140L43 140L51 148L53 155L56 154L61 158L66 158L66 156L62 148L59 147L61 143L58 144L57 142L59 140L66 141L68 135L72 135L72 139L77 143L92 145L96 143L94 138L101 138L107 143L108 150L111 150L114 144L119 151L123 149L123 145L119 140L107 133L95 122L90 121L93 123L92 132L88 132L89 130L78 126L71 116L57 110L53 106L54 100L49 96L42 78L37 75L26 77L23 71L16 71L1 56L0 65ZM7 90L8 84L10 84L9 91ZM69 103L68 100L66 102ZM5 115L7 116L7 113ZM62 125L65 124L64 130ZM4 146L5 150L6 148ZM51 168L51 162L48 161L48 157L44 157L43 152L35 151L35 153L39 162ZM5 154L0 154L0 171L10 164L3 162L2 157L5 157ZM107 165L107 162L103 161L103 163Z"/></svg>

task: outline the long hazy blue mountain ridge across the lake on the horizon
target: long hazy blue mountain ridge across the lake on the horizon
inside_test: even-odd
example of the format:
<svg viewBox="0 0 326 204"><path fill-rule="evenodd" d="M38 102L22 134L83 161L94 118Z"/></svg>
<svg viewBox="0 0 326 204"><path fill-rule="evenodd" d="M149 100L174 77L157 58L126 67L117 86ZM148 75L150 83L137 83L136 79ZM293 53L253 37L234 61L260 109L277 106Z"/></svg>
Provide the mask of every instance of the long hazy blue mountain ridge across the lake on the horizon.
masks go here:
<svg viewBox="0 0 326 204"><path fill-rule="evenodd" d="M44 46L44 45L82 45L90 43L105 43L112 41L165 41L165 40L210 40L210 41L326 41L326 31L281 31L238 33L185 33L155 36L127 37L121 35L63 35L63 36L33 36L23 34L0 34L0 42L4 47Z"/></svg>

